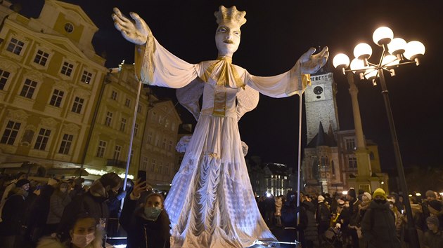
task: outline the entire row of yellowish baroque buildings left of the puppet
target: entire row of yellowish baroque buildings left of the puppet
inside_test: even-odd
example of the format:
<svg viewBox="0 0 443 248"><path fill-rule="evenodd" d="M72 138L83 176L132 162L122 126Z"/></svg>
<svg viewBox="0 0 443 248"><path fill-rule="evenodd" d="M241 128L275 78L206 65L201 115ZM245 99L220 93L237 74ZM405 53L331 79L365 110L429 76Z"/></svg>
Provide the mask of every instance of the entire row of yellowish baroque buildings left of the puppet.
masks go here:
<svg viewBox="0 0 443 248"><path fill-rule="evenodd" d="M79 6L46 0L37 19L10 6L0 3L0 172L96 179L123 176L130 158L130 178L141 170L169 184L174 104L144 87L136 104L134 65L104 66L91 44L98 27Z"/></svg>

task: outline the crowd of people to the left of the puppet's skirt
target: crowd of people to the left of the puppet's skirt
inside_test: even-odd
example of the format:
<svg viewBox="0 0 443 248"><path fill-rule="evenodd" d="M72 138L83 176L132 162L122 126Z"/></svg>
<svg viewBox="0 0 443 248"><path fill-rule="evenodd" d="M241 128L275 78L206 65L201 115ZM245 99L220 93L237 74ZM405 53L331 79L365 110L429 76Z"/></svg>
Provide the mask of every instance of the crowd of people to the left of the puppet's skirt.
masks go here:
<svg viewBox="0 0 443 248"><path fill-rule="evenodd" d="M120 231L127 247L169 247L163 195L145 181L123 187L113 172L89 186L82 178L42 184L24 173L1 176L1 248L98 248Z"/></svg>

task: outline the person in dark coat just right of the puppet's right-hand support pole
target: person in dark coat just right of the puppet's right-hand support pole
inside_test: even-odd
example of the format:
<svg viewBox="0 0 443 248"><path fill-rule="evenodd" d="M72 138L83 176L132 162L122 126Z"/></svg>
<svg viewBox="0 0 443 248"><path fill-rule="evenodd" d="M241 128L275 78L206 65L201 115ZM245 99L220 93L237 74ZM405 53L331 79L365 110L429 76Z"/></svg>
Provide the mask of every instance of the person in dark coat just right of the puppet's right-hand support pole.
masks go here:
<svg viewBox="0 0 443 248"><path fill-rule="evenodd" d="M297 230L300 233L302 247L319 247L319 230L315 220L316 207L309 198L301 195L300 201L300 224Z"/></svg>

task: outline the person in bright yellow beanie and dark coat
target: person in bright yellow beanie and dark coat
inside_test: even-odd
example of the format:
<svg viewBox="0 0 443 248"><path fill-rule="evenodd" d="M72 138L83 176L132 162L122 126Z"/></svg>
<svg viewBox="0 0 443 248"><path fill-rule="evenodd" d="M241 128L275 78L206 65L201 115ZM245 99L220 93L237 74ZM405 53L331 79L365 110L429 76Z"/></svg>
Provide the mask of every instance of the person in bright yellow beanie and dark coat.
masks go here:
<svg viewBox="0 0 443 248"><path fill-rule="evenodd" d="M395 230L395 216L389 208L385 191L377 188L372 196L373 200L361 221L361 233L368 242L368 248L401 247Z"/></svg>

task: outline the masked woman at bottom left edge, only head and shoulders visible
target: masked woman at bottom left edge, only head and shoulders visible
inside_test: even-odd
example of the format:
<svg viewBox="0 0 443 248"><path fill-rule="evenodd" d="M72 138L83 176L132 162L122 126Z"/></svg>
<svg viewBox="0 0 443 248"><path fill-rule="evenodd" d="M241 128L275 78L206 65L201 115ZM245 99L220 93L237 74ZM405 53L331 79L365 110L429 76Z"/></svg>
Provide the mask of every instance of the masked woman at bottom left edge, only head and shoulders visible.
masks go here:
<svg viewBox="0 0 443 248"><path fill-rule="evenodd" d="M103 233L97 224L97 219L87 212L79 213L68 223L68 237L64 240L51 236L42 237L37 248L101 248Z"/></svg>

